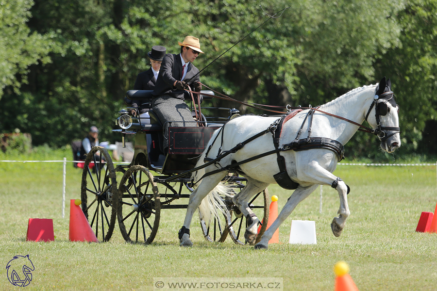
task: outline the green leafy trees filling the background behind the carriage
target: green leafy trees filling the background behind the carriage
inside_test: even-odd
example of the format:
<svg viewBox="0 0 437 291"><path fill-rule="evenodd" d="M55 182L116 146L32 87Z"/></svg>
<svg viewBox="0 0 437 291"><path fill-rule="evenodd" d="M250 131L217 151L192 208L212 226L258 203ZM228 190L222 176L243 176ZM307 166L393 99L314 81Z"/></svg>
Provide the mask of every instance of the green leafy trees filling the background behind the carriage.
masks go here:
<svg viewBox="0 0 437 291"><path fill-rule="evenodd" d="M205 52L194 64L206 67L201 81L244 101L316 106L391 78L401 106L398 155L429 153L420 140L437 119L436 2L299 0L269 18L283 1L8 1L0 5L0 132L18 128L35 145L63 146L96 125L102 141L114 142L116 113L149 68L147 52L163 45L178 53L178 41L194 35ZM265 113L219 99L209 105ZM347 153L392 160L369 150L375 141L357 134Z"/></svg>

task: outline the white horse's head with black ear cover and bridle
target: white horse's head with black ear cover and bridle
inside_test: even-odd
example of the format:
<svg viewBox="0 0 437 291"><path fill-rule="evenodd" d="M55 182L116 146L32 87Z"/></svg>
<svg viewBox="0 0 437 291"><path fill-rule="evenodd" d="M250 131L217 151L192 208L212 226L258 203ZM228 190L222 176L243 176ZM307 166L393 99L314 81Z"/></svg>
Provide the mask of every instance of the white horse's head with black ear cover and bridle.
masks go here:
<svg viewBox="0 0 437 291"><path fill-rule="evenodd" d="M391 81L384 77L376 87L366 120L381 140L381 148L389 153L401 146L398 113L399 105L391 91Z"/></svg>

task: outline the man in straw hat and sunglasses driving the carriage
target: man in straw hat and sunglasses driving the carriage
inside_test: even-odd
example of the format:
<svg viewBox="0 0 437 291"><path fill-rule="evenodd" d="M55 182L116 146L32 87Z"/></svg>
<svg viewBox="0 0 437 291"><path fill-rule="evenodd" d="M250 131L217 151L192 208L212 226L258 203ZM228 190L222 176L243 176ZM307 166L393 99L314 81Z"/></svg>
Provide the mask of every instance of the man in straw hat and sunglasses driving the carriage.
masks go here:
<svg viewBox="0 0 437 291"><path fill-rule="evenodd" d="M199 39L194 36L185 37L180 54L168 53L163 58L155 89L152 93L152 109L164 125L164 153L168 148L168 127L195 127L191 110L184 102L184 92L191 90L200 92L199 69L192 62L203 51ZM185 81L184 81L185 80Z"/></svg>

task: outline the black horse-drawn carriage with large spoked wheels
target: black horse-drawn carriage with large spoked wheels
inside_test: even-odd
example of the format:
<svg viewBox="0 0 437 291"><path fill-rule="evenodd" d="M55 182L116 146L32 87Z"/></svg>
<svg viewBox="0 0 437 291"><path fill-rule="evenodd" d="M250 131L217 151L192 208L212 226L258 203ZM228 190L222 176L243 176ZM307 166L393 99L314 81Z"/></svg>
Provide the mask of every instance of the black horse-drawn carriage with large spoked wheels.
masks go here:
<svg viewBox="0 0 437 291"><path fill-rule="evenodd" d="M214 95L212 91L201 93ZM211 98L203 96L204 100ZM138 99L150 100L151 91L128 91L124 98L127 109L138 110L131 106L132 100ZM193 191L192 181L190 177L179 178L177 174L193 169L214 130L238 116L237 110L229 108L202 107L203 112L212 115L206 117L198 109L195 111L192 103L191 109L193 116L196 111L201 116L202 126L172 127L170 124L168 153L161 149L160 145L167 137L164 137L163 125L152 110L149 111L150 122L133 117L126 110L118 112L118 129L113 131L121 134L123 147L126 139L134 139L134 156L128 165L114 164L107 150L100 146L93 147L88 153L82 174L82 210L99 241L109 241L118 223L126 242L150 244L156 236L163 212L187 208L186 201ZM193 119L193 122L196 121ZM233 187L235 193L245 186L246 181L236 173L229 173L223 179ZM268 200L266 189L255 195L249 203L250 208L263 219L259 226L259 237L267 226ZM205 220L199 210L205 239L223 242L229 235L235 243L244 244L246 218L232 199L223 197L219 207L227 208L228 211L223 213L228 214L212 221Z"/></svg>

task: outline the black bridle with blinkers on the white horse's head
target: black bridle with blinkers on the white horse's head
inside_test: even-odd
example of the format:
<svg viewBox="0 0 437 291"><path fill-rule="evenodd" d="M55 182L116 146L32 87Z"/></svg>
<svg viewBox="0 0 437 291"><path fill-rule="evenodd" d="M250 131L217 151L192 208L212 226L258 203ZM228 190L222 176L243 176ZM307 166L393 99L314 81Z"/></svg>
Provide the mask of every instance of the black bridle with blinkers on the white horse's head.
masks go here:
<svg viewBox="0 0 437 291"><path fill-rule="evenodd" d="M397 108L399 113L399 105L396 104L395 95L392 91L384 92L380 95L375 95L372 104L370 105L369 111L366 114L365 120L369 117L370 111L373 106L375 107L375 119L376 119L376 129L373 130L373 134L378 136L378 138L385 142L390 136L395 135L396 133L400 133L401 129L399 127L382 127L380 122L380 116L387 115L390 112L390 107L388 107L387 103L390 103L393 107ZM384 130L394 131L391 134L387 134Z"/></svg>

